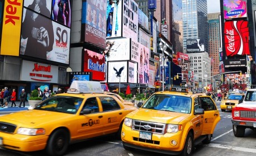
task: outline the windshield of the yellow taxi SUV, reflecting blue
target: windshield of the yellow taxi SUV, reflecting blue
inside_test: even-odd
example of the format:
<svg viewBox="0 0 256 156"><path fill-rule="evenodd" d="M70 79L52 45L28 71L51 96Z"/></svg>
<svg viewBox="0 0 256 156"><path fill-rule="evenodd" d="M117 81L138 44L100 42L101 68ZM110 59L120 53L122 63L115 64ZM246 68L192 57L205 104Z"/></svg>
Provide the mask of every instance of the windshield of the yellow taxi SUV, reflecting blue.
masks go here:
<svg viewBox="0 0 256 156"><path fill-rule="evenodd" d="M191 98L178 95L154 94L142 108L189 114L191 113Z"/></svg>

